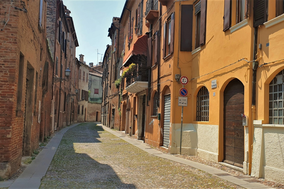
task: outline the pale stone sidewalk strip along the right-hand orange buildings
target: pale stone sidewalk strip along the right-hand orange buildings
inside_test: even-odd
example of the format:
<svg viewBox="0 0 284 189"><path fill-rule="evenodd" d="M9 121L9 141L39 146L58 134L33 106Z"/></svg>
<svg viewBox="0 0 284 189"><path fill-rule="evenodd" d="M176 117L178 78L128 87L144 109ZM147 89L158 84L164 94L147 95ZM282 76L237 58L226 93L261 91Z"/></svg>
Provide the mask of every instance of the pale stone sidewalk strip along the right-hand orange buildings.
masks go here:
<svg viewBox="0 0 284 189"><path fill-rule="evenodd" d="M241 179L242 177L240 178L237 178L238 176L233 176L231 174L228 174L227 172L225 171L222 171L220 169L216 169L214 167L210 167L208 165L204 165L204 164L201 164L201 163L197 163L197 162L193 162L193 161L190 161L190 160L186 160L186 159L183 159L183 158L179 158L179 157L176 157L176 156L171 156L169 154L164 154L164 153L161 153L160 151L158 150L155 150L154 148L152 149L149 149L149 146L141 143L141 144L138 144L137 143L137 140L135 139L131 139L131 138L128 138L128 137L125 137L125 136L121 136L121 134L119 134L118 132L116 131L113 131L112 129L110 128L107 128L105 126L103 126L102 124L98 124L99 126L102 126L103 129L105 129L106 131L112 133L113 135L123 139L124 141L136 146L137 148L140 148L141 150L149 153L149 154L152 154L154 156L158 156L158 157L161 157L161 158L165 158L165 159L168 159L168 160L172 160L172 161L175 161L175 162L179 162L179 163L183 163L185 165L190 165L192 167L195 167L197 169L200 169L202 171L205 171L209 174L212 174L216 177L219 177L223 180L227 180L229 182L232 182L234 184L237 184L243 188L247 188L247 189L271 189L270 187L268 186L265 186L263 184L260 184L260 183L257 183L257 182L249 182L251 179L247 179L248 181L245 181L245 179Z"/></svg>

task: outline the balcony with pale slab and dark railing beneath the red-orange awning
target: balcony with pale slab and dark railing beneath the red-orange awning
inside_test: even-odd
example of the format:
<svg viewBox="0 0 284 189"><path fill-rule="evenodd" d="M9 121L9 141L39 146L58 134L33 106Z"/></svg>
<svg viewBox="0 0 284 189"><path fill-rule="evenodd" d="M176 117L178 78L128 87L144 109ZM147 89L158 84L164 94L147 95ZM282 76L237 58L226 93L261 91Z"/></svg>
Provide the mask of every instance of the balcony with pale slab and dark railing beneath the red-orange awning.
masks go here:
<svg viewBox="0 0 284 189"><path fill-rule="evenodd" d="M136 69L126 76L126 92L139 93L148 88L148 69L141 63L137 64Z"/></svg>

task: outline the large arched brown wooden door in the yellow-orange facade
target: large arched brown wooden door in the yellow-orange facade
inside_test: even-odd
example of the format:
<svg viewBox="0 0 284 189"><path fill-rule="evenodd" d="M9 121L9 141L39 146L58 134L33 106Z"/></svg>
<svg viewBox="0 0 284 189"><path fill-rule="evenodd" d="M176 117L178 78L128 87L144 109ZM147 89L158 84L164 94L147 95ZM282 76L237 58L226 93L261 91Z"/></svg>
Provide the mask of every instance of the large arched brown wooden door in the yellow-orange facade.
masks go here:
<svg viewBox="0 0 284 189"><path fill-rule="evenodd" d="M243 167L244 85L238 79L231 80L224 90L224 162Z"/></svg>

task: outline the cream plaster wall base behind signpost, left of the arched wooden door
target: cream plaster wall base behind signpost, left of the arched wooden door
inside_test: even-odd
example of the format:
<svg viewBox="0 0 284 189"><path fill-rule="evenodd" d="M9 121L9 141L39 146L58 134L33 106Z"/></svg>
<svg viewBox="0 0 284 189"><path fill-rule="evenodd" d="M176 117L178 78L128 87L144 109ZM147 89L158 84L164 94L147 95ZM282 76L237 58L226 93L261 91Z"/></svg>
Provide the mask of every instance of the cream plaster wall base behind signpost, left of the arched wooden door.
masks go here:
<svg viewBox="0 0 284 189"><path fill-rule="evenodd" d="M176 153L180 146L180 127L175 124ZM182 154L194 155L212 162L218 162L218 125L183 124Z"/></svg>

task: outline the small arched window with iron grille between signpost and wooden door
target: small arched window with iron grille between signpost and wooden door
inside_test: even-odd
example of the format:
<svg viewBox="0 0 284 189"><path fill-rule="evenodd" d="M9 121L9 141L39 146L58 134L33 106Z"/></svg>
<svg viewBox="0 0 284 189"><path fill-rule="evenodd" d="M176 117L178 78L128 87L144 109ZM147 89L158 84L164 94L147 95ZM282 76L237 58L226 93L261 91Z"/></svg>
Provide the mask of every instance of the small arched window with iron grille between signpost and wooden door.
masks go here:
<svg viewBox="0 0 284 189"><path fill-rule="evenodd" d="M196 121L209 121L209 92L204 86L197 94Z"/></svg>

